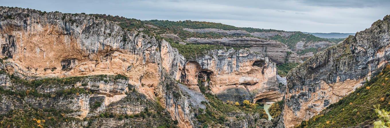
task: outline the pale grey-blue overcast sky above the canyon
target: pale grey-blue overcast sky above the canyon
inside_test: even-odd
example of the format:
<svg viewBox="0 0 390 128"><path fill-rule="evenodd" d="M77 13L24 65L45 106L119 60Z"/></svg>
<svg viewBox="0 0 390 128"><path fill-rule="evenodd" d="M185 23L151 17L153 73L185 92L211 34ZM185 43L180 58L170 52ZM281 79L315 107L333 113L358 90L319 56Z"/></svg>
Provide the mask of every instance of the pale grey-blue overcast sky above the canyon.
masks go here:
<svg viewBox="0 0 390 128"><path fill-rule="evenodd" d="M390 0L0 0L0 6L321 33L355 33L390 14Z"/></svg>

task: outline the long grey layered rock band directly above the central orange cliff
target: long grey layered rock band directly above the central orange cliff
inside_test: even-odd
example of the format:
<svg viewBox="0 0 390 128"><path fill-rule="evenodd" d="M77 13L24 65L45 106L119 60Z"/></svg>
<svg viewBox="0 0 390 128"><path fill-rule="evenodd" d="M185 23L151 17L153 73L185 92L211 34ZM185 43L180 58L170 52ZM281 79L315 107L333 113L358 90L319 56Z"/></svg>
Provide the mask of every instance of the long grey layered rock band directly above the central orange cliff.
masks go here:
<svg viewBox="0 0 390 128"><path fill-rule="evenodd" d="M289 50L285 44L273 40L253 37L224 37L222 39L189 38L186 41L195 44L249 47L248 49L251 51L261 53L277 64L298 63L300 61L298 55Z"/></svg>

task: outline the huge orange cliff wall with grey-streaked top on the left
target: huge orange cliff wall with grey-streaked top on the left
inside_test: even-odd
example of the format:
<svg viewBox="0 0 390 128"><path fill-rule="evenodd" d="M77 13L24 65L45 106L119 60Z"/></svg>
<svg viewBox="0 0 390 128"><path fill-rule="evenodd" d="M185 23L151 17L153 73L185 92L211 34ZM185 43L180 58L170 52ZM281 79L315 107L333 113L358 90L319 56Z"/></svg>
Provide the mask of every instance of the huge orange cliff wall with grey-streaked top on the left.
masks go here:
<svg viewBox="0 0 390 128"><path fill-rule="evenodd" d="M126 84L135 86L149 100L160 99L163 107L172 110L172 118L179 126L192 125L188 98L176 97L172 102L171 93L163 84L170 77L179 78L184 64L183 56L168 42L125 31L114 23L85 14L6 7L0 13L0 44L2 54L10 58L6 67L10 74L42 77L123 74L129 78ZM106 91L99 93L116 96ZM115 98L125 97L128 96ZM137 107L124 110L136 109L143 110Z"/></svg>

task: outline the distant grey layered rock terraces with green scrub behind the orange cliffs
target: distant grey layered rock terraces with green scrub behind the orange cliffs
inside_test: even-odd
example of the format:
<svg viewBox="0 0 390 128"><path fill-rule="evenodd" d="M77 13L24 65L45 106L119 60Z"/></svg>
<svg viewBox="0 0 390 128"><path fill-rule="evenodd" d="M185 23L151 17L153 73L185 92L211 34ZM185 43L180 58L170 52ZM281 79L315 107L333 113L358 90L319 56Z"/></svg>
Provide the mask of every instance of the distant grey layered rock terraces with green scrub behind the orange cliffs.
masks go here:
<svg viewBox="0 0 390 128"><path fill-rule="evenodd" d="M189 32L197 33L218 33L225 36L253 36L256 38L223 38L223 39L187 39L188 42L199 44L220 44L234 46L234 44L244 45L250 47L251 50L261 52L277 64L285 62L297 62L299 60L306 60L313 56L318 51L333 46L337 42L315 37L314 35L305 34L302 32L285 32L280 30L262 30L263 32L248 32L245 30L221 30L215 28L190 29L184 28ZM278 40L273 41L273 40ZM283 42L283 43L280 43ZM278 44L279 43L279 44ZM291 55L287 53L293 52ZM282 56L284 55L284 56ZM288 60L288 61L284 61Z"/></svg>

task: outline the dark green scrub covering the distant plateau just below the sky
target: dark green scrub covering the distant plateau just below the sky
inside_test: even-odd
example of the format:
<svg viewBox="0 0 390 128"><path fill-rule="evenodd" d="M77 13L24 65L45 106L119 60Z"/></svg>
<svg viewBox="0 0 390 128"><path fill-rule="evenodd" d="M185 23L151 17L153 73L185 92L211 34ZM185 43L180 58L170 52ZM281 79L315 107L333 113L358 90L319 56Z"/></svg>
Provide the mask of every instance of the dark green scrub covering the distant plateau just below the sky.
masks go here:
<svg viewBox="0 0 390 128"><path fill-rule="evenodd" d="M147 35L152 35L156 37L160 37L161 34L175 34L177 35L181 40L183 41L191 38L209 38L209 39L219 39L222 37L254 37L253 35L244 35L244 36L237 36L237 35L221 35L219 33L214 32L207 32L207 33L197 33L197 32L189 32L186 30L183 30L183 28L191 28L191 29L201 29L201 28L216 28L216 29L222 29L222 30L245 30L247 32L285 32L282 30L272 30L272 29L259 29L259 28L240 28L232 25L225 25L222 23L213 23L213 22L204 22L204 21L168 21L168 20L150 20L150 21L141 21L138 19L130 19L130 18L124 18L119 16L111 16L111 15L105 15L105 14L90 14L92 16L95 16L97 18L103 18L109 21L113 21L117 23L119 26L121 26L124 29L127 30L137 30L140 32L143 32ZM255 37L259 38L259 37ZM262 38L259 38L262 39ZM269 40L277 40L279 42L282 42L286 44L289 49L294 50L296 43L300 41L304 42L318 42L318 41L329 41L337 43L340 40L343 39L325 39L325 38L319 38L314 35L310 34L304 34L302 32L293 32L292 35L289 37L282 37L280 35L276 35L273 37L268 38ZM184 46L179 45L177 40L172 39L165 39L168 42L175 43L176 45L173 45L177 49L179 49L181 54L191 54L186 53L185 51L195 51L197 53L204 53L205 51L202 49L223 49L223 47L213 47L213 46L202 46L202 49L183 49L183 47L192 47L192 46ZM187 43L188 44L188 43ZM191 44L188 44L191 45ZM206 48L205 48L206 47ZM305 54L308 52L314 52L317 53L318 51L321 51L323 49L304 49L303 51L298 52L298 54ZM192 55L191 55L192 56ZM196 56L192 56L196 57Z"/></svg>

